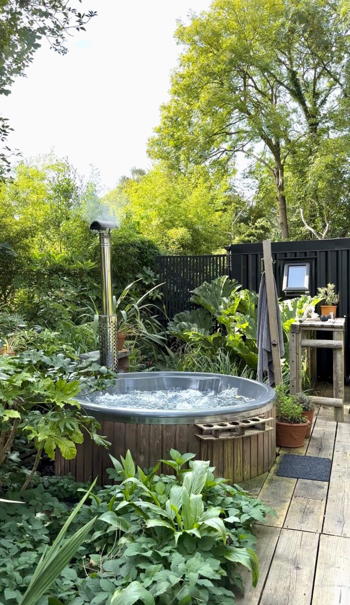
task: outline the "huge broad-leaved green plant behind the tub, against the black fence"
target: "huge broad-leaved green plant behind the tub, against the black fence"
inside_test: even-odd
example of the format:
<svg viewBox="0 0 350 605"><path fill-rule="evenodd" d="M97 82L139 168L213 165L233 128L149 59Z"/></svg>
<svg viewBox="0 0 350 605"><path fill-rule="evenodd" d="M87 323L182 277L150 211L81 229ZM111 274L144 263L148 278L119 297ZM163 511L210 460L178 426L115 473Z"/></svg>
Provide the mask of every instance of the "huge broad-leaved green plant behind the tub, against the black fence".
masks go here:
<svg viewBox="0 0 350 605"><path fill-rule="evenodd" d="M306 307L321 298L300 296L280 301L285 340L285 373L288 372L289 327ZM257 302L256 292L243 290L227 276L203 283L190 298L198 308L177 313L168 332L185 347L174 345L171 367L187 371L219 371L256 378ZM202 370L200 367L202 366ZM286 375L287 379L288 376Z"/></svg>

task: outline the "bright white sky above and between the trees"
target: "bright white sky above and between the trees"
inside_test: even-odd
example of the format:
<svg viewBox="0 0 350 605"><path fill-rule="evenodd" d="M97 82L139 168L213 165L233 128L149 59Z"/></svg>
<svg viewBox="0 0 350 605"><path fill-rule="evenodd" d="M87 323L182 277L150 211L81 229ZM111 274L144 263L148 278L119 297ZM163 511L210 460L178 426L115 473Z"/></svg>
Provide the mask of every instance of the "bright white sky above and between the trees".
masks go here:
<svg viewBox="0 0 350 605"><path fill-rule="evenodd" d="M15 132L8 143L24 157L52 148L83 175L90 164L107 188L132 166L148 168L147 139L168 99L179 53L173 33L210 0L83 0L98 15L60 56L46 44L27 77L18 78L2 115Z"/></svg>

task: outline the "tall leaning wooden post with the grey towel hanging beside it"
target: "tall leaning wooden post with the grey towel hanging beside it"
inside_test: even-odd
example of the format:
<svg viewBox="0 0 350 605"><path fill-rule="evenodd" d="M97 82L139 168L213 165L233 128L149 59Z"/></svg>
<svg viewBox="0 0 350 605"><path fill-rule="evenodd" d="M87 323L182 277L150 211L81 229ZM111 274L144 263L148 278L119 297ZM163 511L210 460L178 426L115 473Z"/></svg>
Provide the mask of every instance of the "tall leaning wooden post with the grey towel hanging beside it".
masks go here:
<svg viewBox="0 0 350 605"><path fill-rule="evenodd" d="M275 385L282 383L280 359L279 330L275 302L274 274L272 271L271 241L263 241L263 258L265 267L266 295L268 301L269 330L272 349L272 364L274 366Z"/></svg>

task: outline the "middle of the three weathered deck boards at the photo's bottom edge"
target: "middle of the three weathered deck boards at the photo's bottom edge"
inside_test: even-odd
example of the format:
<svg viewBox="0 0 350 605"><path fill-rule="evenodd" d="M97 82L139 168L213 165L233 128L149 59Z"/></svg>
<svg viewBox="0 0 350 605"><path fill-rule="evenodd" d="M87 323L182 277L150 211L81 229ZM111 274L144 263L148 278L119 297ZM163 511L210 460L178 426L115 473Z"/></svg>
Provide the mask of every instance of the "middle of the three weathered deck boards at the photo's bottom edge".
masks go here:
<svg viewBox="0 0 350 605"><path fill-rule="evenodd" d="M311 603L318 541L318 534L281 530L260 605Z"/></svg>

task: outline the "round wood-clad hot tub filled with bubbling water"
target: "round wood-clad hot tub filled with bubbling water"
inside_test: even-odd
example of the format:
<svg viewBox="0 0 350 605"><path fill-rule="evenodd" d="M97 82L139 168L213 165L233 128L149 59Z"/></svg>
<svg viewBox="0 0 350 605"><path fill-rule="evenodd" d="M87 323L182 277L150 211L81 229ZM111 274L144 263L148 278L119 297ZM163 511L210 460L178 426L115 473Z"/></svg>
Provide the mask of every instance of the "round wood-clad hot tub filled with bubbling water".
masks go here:
<svg viewBox="0 0 350 605"><path fill-rule="evenodd" d="M108 452L119 458L130 450L141 468L150 468L174 448L210 460L230 482L253 479L274 462L275 398L265 384L223 374L119 374L107 391L79 394L82 408L101 422L110 450L85 439L74 460L58 454L56 474L106 483Z"/></svg>

